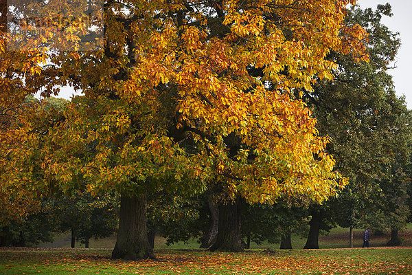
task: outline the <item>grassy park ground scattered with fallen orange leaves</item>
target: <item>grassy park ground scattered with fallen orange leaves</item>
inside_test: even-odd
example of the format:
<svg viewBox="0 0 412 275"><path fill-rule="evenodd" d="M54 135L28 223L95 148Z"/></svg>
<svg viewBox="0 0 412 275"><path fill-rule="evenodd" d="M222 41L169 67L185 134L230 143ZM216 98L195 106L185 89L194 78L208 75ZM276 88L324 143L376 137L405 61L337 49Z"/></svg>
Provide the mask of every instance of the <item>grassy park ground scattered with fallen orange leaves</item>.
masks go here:
<svg viewBox="0 0 412 275"><path fill-rule="evenodd" d="M321 236L320 250L301 250L305 240L294 236L295 250L277 250L277 244L263 243L243 253L205 252L194 241L168 248L159 237L157 259L144 261L110 259L113 246L107 246L113 245L114 237L93 240L88 250L0 248L0 274L412 274L411 229L401 232L404 245L399 248L380 246L388 235L372 235L369 249L359 248L361 230L355 232L357 248L345 248L345 231L336 228Z"/></svg>

